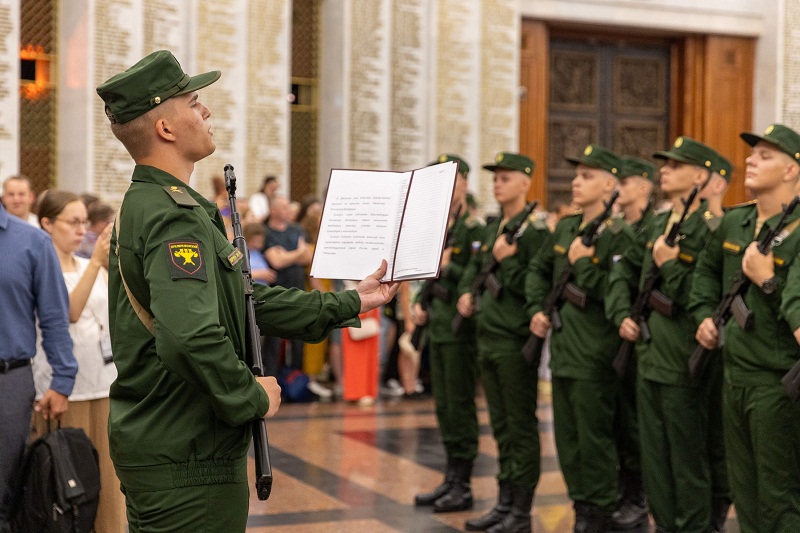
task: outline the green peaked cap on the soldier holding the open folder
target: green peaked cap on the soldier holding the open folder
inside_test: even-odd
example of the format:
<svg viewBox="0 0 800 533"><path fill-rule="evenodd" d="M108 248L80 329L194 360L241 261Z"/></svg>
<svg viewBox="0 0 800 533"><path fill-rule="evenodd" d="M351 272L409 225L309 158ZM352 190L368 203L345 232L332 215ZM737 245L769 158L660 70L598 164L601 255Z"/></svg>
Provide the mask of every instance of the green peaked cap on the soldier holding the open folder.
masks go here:
<svg viewBox="0 0 800 533"><path fill-rule="evenodd" d="M122 124L173 96L211 85L220 75L220 71L213 70L189 76L172 52L159 50L103 82L97 87L97 94L105 102L108 120Z"/></svg>

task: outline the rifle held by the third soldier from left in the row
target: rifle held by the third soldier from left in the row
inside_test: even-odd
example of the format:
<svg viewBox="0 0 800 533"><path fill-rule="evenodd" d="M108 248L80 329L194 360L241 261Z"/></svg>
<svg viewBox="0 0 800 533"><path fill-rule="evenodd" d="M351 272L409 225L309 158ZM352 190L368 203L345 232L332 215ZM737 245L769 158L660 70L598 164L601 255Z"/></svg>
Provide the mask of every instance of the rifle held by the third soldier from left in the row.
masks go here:
<svg viewBox="0 0 800 533"><path fill-rule="evenodd" d="M614 207L614 202L617 201L618 197L619 191L614 191L614 194L611 195L611 198L607 202L603 202L603 205L605 205L603 212L595 217L586 226L583 234L581 235L581 242L584 246L592 246L595 243L598 238L597 232L600 229L600 226L603 225L603 222L605 222L608 217L611 216L611 208ZM567 261L566 266L559 273L553 288L550 289L550 292L547 294L547 297L545 297L544 302L542 302L542 312L550 317L550 324L552 325L554 331L560 331L562 327L561 314L558 312L558 306L561 303L562 298L566 297L569 301L581 309L586 306L586 293L581 291L573 283L570 283L571 279L572 265L569 264L569 261ZM533 363L538 357L541 357L543 345L544 338L531 333L521 350L522 356L525 358L528 364Z"/></svg>

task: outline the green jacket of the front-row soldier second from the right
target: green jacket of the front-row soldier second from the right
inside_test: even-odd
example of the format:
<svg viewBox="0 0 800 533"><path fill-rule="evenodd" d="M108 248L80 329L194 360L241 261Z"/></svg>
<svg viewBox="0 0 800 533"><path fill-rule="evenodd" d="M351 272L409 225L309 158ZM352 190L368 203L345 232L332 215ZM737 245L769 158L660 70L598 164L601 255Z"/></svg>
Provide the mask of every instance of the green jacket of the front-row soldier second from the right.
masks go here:
<svg viewBox="0 0 800 533"><path fill-rule="evenodd" d="M606 295L606 316L617 330L622 320L630 316L635 294L644 284L653 264L653 243L664 235L669 217L670 211L657 214L648 226L642 228L634 244L625 250L614 265ZM706 210L703 202L699 209L686 217L681 226L678 258L667 261L659 270L656 288L672 300L675 311L673 318L667 318L657 311L650 312L647 325L652 339L649 343L639 342L637 346L638 372L644 379L668 385L693 383L689 377L688 362L696 345L694 333L697 326L686 308L698 255L719 221L718 217Z"/></svg>

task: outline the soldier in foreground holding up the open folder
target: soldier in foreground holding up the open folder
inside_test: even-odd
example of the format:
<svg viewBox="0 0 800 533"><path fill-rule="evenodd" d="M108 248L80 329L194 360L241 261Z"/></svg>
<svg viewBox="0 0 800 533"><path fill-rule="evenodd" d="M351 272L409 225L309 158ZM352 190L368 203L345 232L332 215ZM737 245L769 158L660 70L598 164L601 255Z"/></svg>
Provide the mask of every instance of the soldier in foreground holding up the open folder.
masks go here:
<svg viewBox="0 0 800 533"><path fill-rule="evenodd" d="M252 421L280 404L275 378L244 361L242 255L188 185L215 149L197 90L219 77L189 76L161 50L97 88L136 162L109 267L109 436L131 532L243 532ZM384 272L338 294L256 285L258 326L319 341L389 300L397 286L378 282Z"/></svg>

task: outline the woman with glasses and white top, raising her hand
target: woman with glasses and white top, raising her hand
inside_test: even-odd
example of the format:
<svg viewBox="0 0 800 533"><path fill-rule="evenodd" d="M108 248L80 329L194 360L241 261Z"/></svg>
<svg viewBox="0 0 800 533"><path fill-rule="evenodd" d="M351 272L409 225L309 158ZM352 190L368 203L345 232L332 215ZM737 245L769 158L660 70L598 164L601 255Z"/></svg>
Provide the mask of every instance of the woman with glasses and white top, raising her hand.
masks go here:
<svg viewBox="0 0 800 533"><path fill-rule="evenodd" d="M50 190L39 202L39 223L53 240L61 272L69 292L69 332L78 360L78 376L69 397L63 426L82 428L100 458L100 500L94 530L124 532L125 499L108 450L108 391L117 377L108 333L108 249L112 224L97 237L89 259L75 255L88 228L86 207L68 191ZM50 365L39 349L33 361L37 397L50 383ZM36 413L39 435L46 431L44 418Z"/></svg>

